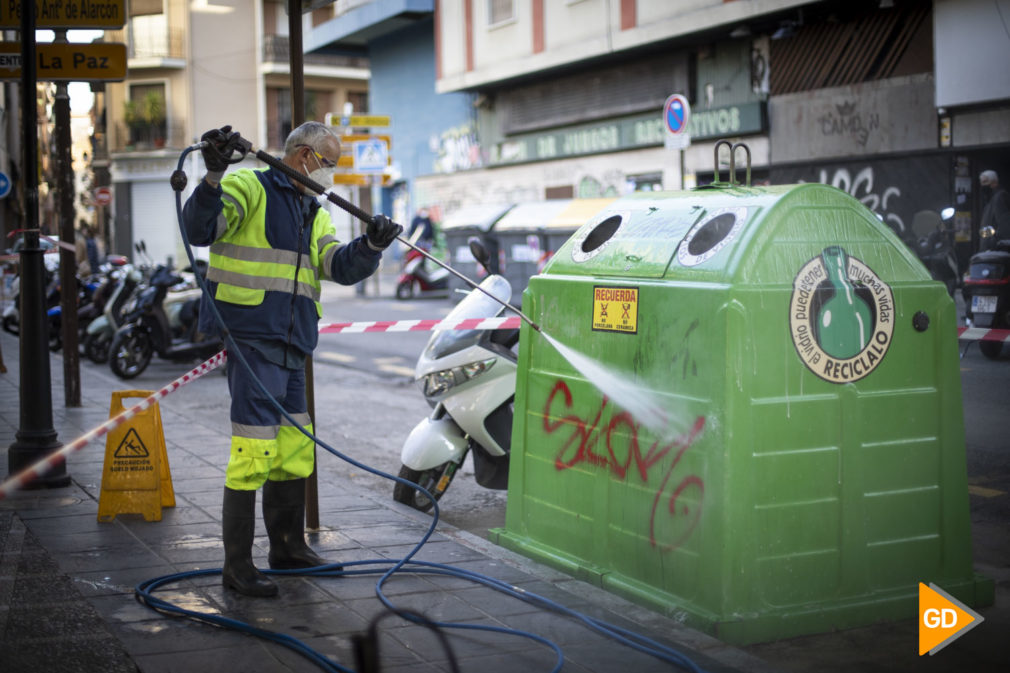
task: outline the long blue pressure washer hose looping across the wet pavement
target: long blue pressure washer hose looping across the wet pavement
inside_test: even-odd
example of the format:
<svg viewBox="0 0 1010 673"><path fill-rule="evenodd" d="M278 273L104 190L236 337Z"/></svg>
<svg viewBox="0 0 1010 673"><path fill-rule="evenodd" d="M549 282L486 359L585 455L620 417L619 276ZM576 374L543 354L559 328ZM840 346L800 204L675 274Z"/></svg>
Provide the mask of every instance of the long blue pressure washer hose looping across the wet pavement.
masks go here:
<svg viewBox="0 0 1010 673"><path fill-rule="evenodd" d="M183 172L183 165L185 163L186 157L196 149L197 146L190 147L187 148L182 153L182 155L179 158L179 164L177 166L176 173L173 175L173 180L172 180L173 188L176 191L176 213L179 218L179 224L180 224L179 228L182 232L183 245L185 246L186 249L186 257L189 259L190 265L194 269L196 268L196 259L193 255L193 249L190 245L189 235L186 232L186 227L183 225L183 219L182 219L183 217L182 190L185 188L185 173ZM182 179L180 180L178 176L182 176ZM206 286L206 281L200 274L196 274L196 278L201 291L208 294L209 296ZM249 369L247 362L242 357L241 352L235 347L234 340L228 332L227 327L224 325L224 321L222 320L221 315L217 310L217 306L214 305L213 301L208 301L204 303L206 306L209 306L210 309L213 311L214 319L217 321L217 324L221 329L221 333L223 334L224 343L227 346L228 357L236 358L242 367ZM376 582L376 595L378 596L379 600L382 601L383 605L387 607L387 609L397 614L398 616L407 619L409 621L413 621L415 623L422 623L424 626L433 627L437 629L488 631L493 633L507 634L511 636L518 636L521 638L529 639L531 641L534 641L536 643L539 643L541 645L550 648L554 652L557 659L554 663L554 668L551 669L551 673L560 673L562 666L565 663L565 655L562 652L562 649L556 643L545 638L542 638L540 636L537 636L529 632L521 631L518 629L508 629L505 627L489 627L486 624L456 623L456 622L450 623L443 621L428 620L425 617L423 617L423 615L418 615L411 612L410 610L404 610L402 608L398 608L386 596L386 594L383 593L383 585L385 584L386 580L388 580L390 577L392 577L395 573L398 572L433 574L433 575L442 575L446 577L453 577L460 579L467 579L482 584L486 587L495 589L497 591L501 591L506 595L512 596L519 600L526 601L537 607L548 609L559 614L575 618L579 621L582 621L588 629L591 629L603 636L611 638L622 645L625 645L634 650L638 650L639 652L643 652L645 654L656 657L658 659L666 661L670 664L673 664L685 670L692 671L693 673L704 673L703 669L701 669L691 659L689 659L687 656L683 655L682 653L678 652L673 648L667 647L661 643L645 638L644 636L641 636L639 634L635 634L634 632L630 632L625 629L621 629L619 627L607 623L601 619L596 619L595 617L582 614L581 612L565 607L561 603L549 600L548 598L544 598L543 596L537 595L535 593L525 591L507 582L503 582L501 580L489 577L487 575L482 575L480 573L475 573L473 571L453 568L445 564L431 563L426 561L413 561L412 560L413 557L417 554L418 551L420 551L421 547L423 547L424 544L427 543L427 541L431 537L431 534L434 533L435 526L438 523L438 515L439 515L438 502L431 495L431 493L418 484L403 479L402 477L387 474L381 470L365 465L364 463L360 463L355 459L350 458L349 456L346 456L337 451L336 449L330 447L328 444L326 444L325 442L317 438L315 435L307 430L304 426L296 422L295 419L287 411L284 410L283 406L276 399L274 399L272 395L270 395L270 393L264 387L263 383L255 376L252 378L260 392L273 402L273 404L277 407L277 409L281 412L281 414L285 418L287 418L292 425L298 427L298 429L303 435L311 439L315 444L322 447L323 449L325 449L332 455L336 456L337 458L347 463L350 463L355 467L358 467L362 470L365 470L379 477L383 477L385 479L405 484L411 488L416 488L417 490L421 491L426 497L428 497L428 499L431 500L431 503L433 505L431 524L430 526L428 526L427 532L425 532L425 534L421 537L421 540L417 543L417 545L415 545L405 557L403 557L398 561L391 561L389 559L352 561L340 564L340 566L342 566L342 569L340 570L334 570L334 566L336 566L336 564L333 564L330 566L318 566L315 568L307 568L304 570L264 571L268 575L298 575L304 577L342 577L342 576L354 576L354 575L375 575L382 573L381 577ZM374 568L371 568L373 566ZM361 568L361 569L350 570L350 568ZM167 584L172 584L175 582L191 579L194 577L220 574L220 572L221 572L220 568L208 569L208 570L194 570L189 572L176 573L172 575L163 575L161 577L144 580L139 584L137 584L136 587L134 588L134 596L140 603L147 605L148 607L158 610L160 612L185 616L194 621L201 621L204 623L222 627L225 629L231 629L233 631L238 631L241 633L249 634L250 636L256 636L257 638L262 638L271 641L272 643L276 643L280 646L288 648L289 650L292 650L304 656L309 661L318 665L319 668L322 669L323 671L338 671L340 673L354 673L352 669L348 669L344 666L341 666L340 664L332 661L328 657L313 650L309 646L305 645L305 643L299 641L298 639L292 636L280 634L277 632L272 632L266 629L260 629L247 622L240 621L238 619L232 619L230 617L221 616L218 614L211 614L207 612L199 612L196 610L186 609L178 605L175 605L174 603L171 603L167 600L159 598L157 595L155 595L155 591L157 591L159 588ZM450 650L447 652L447 655L454 670L456 662Z"/></svg>

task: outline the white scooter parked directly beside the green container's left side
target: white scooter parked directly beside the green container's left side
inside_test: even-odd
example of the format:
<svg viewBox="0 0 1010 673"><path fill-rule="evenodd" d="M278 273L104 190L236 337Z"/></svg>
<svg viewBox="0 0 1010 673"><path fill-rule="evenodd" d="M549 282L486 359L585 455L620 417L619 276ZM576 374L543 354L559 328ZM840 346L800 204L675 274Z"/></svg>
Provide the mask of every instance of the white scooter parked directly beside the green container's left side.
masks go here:
<svg viewBox="0 0 1010 673"><path fill-rule="evenodd" d="M476 237L471 250L487 268L489 256ZM502 301L512 298L512 287L502 276L489 275L481 287ZM501 303L475 290L446 319L494 317L503 310ZM469 453L477 483L492 489L508 487L518 342L518 329L432 333L418 358L415 378L433 409L404 442L400 477L438 500ZM421 511L433 505L418 489L399 482L393 499Z"/></svg>

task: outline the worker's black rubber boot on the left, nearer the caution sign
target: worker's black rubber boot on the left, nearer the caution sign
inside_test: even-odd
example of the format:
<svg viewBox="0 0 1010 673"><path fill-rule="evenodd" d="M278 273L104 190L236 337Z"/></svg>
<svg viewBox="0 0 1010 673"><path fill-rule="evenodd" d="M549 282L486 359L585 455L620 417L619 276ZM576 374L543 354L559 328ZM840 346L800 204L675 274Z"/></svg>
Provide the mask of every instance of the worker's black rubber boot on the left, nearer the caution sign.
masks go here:
<svg viewBox="0 0 1010 673"><path fill-rule="evenodd" d="M277 585L252 565L256 491L224 488L221 532L224 538L221 583L246 596L276 596Z"/></svg>

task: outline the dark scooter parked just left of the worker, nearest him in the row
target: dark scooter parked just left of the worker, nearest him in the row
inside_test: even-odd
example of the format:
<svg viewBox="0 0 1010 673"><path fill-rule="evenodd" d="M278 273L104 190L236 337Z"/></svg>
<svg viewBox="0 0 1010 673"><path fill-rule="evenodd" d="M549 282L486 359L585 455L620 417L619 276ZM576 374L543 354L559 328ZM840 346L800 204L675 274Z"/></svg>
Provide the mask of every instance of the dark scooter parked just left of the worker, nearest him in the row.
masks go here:
<svg viewBox="0 0 1010 673"><path fill-rule="evenodd" d="M109 368L121 379L139 375L157 353L164 360L185 362L208 358L223 348L220 339L199 339L200 290L169 293L184 283L170 266L161 265L150 284L126 313L109 349Z"/></svg>

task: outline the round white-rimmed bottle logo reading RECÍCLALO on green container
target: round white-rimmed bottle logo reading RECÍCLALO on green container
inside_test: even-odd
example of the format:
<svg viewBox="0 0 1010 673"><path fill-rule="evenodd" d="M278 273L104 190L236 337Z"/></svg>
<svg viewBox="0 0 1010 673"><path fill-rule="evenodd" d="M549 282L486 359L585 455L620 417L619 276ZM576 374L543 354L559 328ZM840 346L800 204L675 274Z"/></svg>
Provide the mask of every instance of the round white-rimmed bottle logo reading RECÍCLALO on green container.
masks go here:
<svg viewBox="0 0 1010 673"><path fill-rule="evenodd" d="M894 294L873 269L829 246L793 279L789 327L807 369L829 383L858 381L891 348Z"/></svg>

